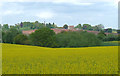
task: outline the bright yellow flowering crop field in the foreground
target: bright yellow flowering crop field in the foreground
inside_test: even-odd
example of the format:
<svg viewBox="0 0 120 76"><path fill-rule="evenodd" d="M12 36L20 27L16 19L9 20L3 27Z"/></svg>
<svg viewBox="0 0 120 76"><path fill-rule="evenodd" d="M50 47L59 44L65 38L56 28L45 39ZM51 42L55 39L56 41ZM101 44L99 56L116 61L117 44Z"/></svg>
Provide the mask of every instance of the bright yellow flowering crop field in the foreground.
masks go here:
<svg viewBox="0 0 120 76"><path fill-rule="evenodd" d="M2 44L3 74L117 74L118 46L45 48Z"/></svg>

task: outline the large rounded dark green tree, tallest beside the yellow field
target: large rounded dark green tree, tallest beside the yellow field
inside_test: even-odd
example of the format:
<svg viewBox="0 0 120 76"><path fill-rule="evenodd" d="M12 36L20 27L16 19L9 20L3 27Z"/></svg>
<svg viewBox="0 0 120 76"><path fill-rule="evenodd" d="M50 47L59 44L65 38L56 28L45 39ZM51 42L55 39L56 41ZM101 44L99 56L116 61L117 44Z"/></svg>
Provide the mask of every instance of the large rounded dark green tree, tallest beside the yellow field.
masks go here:
<svg viewBox="0 0 120 76"><path fill-rule="evenodd" d="M49 28L41 28L30 34L30 40L32 45L42 47L54 47L55 44L55 32Z"/></svg>

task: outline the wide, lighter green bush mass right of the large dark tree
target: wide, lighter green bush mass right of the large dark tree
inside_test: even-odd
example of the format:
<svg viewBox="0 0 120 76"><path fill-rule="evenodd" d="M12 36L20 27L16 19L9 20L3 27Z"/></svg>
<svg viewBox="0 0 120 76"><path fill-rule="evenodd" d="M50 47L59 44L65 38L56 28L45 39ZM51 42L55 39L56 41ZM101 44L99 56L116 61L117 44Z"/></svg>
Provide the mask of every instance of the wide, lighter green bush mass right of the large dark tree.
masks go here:
<svg viewBox="0 0 120 76"><path fill-rule="evenodd" d="M87 47L100 45L96 35L88 32L65 32L56 35L59 47Z"/></svg>

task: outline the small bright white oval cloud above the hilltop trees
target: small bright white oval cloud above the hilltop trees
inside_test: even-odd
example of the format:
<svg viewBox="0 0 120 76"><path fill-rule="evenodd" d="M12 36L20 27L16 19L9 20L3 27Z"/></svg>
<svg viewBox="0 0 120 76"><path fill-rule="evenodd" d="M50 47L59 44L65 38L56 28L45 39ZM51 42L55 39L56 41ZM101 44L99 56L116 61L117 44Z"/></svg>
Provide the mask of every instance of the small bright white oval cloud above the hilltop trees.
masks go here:
<svg viewBox="0 0 120 76"><path fill-rule="evenodd" d="M54 17L54 13L50 11L46 11L46 12L40 12L36 16L42 19L50 19Z"/></svg>

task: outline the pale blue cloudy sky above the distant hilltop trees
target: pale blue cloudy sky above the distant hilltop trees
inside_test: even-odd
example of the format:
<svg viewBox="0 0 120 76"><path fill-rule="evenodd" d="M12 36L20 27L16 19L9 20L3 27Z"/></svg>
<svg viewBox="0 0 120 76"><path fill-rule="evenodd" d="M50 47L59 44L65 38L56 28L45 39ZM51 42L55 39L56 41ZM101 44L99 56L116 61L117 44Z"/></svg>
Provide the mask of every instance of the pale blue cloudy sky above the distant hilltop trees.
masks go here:
<svg viewBox="0 0 120 76"><path fill-rule="evenodd" d="M24 21L64 24L103 24L118 28L119 0L1 0L0 23Z"/></svg>

